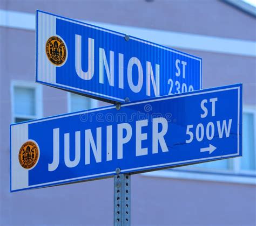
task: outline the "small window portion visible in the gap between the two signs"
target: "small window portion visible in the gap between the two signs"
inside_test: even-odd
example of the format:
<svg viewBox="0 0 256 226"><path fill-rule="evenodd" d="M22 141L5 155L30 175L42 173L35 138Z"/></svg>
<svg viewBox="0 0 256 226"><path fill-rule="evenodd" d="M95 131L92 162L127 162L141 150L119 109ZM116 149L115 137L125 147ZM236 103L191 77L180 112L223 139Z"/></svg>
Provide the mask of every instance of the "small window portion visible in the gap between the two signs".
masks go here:
<svg viewBox="0 0 256 226"><path fill-rule="evenodd" d="M68 93L68 111L83 111L97 107L97 101L78 94Z"/></svg>

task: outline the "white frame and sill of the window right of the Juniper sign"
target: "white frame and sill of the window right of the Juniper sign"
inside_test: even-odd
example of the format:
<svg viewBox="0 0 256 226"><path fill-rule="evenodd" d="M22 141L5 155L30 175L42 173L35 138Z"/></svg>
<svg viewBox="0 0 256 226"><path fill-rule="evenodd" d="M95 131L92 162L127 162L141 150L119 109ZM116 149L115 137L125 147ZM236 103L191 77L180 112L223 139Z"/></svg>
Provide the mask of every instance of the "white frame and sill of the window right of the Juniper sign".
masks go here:
<svg viewBox="0 0 256 226"><path fill-rule="evenodd" d="M244 105L243 113L252 113L254 116L254 140L256 141L256 105ZM254 151L256 151L256 142L254 142ZM143 173L144 176L153 176L171 179L188 179L188 180L206 180L230 183L244 183L256 185L256 171L245 171L240 169L241 158L232 158L232 171L221 169L204 169L204 168L173 168L161 171L152 171ZM256 154L255 154L256 163Z"/></svg>

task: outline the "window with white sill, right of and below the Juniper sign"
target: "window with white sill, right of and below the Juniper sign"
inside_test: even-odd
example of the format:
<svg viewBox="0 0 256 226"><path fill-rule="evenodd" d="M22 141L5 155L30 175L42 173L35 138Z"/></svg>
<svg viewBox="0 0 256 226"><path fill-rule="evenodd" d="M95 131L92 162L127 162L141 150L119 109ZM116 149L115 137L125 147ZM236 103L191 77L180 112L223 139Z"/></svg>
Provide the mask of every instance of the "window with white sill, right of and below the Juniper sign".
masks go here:
<svg viewBox="0 0 256 226"><path fill-rule="evenodd" d="M242 157L231 158L164 171L149 176L256 183L256 107L244 107L242 115Z"/></svg>

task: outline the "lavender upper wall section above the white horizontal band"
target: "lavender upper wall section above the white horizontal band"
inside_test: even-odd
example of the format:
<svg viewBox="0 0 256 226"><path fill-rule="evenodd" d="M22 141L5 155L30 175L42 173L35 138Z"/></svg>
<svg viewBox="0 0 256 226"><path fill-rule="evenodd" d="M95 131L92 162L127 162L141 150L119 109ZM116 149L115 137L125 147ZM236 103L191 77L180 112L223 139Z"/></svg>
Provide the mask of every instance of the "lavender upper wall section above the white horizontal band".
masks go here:
<svg viewBox="0 0 256 226"><path fill-rule="evenodd" d="M246 25L251 16L221 1L205 0L5 0L6 9L35 13L37 9L69 18L148 27L207 36L255 40Z"/></svg>

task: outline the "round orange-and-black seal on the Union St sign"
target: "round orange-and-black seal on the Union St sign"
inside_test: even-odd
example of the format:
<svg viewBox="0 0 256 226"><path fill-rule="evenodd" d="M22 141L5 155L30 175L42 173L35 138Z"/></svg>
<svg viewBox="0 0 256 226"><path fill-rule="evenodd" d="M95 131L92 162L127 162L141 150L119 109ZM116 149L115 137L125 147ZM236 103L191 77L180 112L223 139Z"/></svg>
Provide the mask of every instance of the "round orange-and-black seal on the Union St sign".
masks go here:
<svg viewBox="0 0 256 226"><path fill-rule="evenodd" d="M62 39L52 36L45 45L45 52L53 65L60 66L66 59L66 46Z"/></svg>

